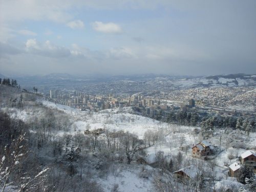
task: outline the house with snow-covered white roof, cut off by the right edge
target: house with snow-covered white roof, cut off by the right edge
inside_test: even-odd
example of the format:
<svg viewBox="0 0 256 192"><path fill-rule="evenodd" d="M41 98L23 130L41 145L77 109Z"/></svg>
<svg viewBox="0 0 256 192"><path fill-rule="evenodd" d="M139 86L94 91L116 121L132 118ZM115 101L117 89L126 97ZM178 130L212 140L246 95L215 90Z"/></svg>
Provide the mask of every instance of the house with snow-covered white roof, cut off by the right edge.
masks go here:
<svg viewBox="0 0 256 192"><path fill-rule="evenodd" d="M246 151L240 156L241 164L251 168L256 173L256 154L251 151Z"/></svg>

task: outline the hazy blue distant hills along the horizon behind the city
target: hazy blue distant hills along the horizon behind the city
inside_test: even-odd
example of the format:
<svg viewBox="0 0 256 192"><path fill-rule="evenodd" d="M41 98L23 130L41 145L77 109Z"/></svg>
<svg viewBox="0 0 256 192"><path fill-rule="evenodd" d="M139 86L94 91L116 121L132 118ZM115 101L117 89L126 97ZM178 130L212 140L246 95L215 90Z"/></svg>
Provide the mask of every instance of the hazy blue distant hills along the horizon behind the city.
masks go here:
<svg viewBox="0 0 256 192"><path fill-rule="evenodd" d="M15 77L14 77L15 78ZM208 87L238 87L256 86L256 74L228 74L211 76L173 76L165 74L135 74L135 75L71 75L68 73L52 73L44 76L27 76L15 78L22 86L65 87L90 83L122 82L159 84L175 89L208 88Z"/></svg>

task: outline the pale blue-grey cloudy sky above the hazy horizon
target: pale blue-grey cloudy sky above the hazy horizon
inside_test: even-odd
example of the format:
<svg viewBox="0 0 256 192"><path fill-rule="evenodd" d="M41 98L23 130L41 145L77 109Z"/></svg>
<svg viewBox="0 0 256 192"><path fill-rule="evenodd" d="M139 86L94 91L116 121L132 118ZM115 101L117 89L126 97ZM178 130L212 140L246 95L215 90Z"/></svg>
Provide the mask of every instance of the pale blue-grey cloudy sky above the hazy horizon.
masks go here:
<svg viewBox="0 0 256 192"><path fill-rule="evenodd" d="M1 0L0 73L256 73L256 1Z"/></svg>

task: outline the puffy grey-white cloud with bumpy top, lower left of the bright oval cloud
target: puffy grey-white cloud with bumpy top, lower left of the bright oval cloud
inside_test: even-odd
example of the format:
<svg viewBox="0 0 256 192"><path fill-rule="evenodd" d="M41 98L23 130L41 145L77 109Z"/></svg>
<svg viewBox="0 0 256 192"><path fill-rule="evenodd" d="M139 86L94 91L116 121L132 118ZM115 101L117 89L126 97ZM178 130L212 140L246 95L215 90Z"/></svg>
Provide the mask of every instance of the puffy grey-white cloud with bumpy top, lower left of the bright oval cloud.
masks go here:
<svg viewBox="0 0 256 192"><path fill-rule="evenodd" d="M39 43L36 39L28 39L26 42L28 53L45 56L45 57L68 57L71 55L70 50L65 47L53 45L49 40Z"/></svg>

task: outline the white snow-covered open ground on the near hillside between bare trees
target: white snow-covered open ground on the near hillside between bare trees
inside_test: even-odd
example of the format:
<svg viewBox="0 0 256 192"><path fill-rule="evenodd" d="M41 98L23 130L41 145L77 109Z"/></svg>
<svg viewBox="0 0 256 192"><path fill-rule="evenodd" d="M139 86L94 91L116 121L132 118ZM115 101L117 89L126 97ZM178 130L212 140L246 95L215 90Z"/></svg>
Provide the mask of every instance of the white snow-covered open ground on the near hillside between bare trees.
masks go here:
<svg viewBox="0 0 256 192"><path fill-rule="evenodd" d="M167 158L176 156L178 152L181 151L179 146L184 147L183 151L181 151L184 158L191 159L191 147L202 139L194 134L193 130L195 127L170 125L151 118L134 115L130 113L132 111L131 108L117 108L114 110L89 113L46 100L40 100L39 102L41 102L43 106L63 111L70 116L72 125L67 132L71 135L75 135L77 132L83 132L88 127L90 127L90 130L104 128L112 131L129 131L130 133L138 135L140 139L143 139L143 135L147 130L162 131L164 139L159 140L155 145L145 148L146 161L148 163L154 163L156 161L156 153L158 151L163 151ZM13 117L23 119L24 121L29 120L29 118L33 116L40 115L41 113L37 108L35 108L35 110L24 109L21 111L9 109L9 112L12 113ZM74 127L75 129L73 129ZM67 132L60 131L58 134L61 135ZM212 144L219 144L219 137L222 134L224 134L222 131L215 133L215 136L209 139L209 141ZM247 147L253 148L256 146L256 133L251 133L249 136L244 137ZM223 144L222 150L223 151L215 159L215 163L219 165L219 167L216 167L216 177L219 178L219 180L216 181L216 188L240 185L237 183L236 179L229 178L226 180L227 175L224 170L227 167L224 167L224 164L231 164L238 161L238 157L244 153L246 149L228 147L226 150ZM234 158L231 160L228 158L230 151L233 151L234 155ZM114 167L106 178L97 178L97 180L101 183L101 186L104 187L105 191L111 191L115 184L118 184L119 191L154 191L152 186L153 176L150 174L150 177L145 179L141 176L141 172L142 165L133 164L131 167L130 165L120 165L119 167ZM153 173L155 169L147 165L146 172Z"/></svg>

